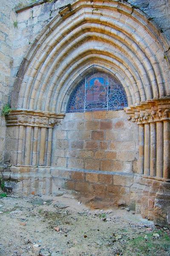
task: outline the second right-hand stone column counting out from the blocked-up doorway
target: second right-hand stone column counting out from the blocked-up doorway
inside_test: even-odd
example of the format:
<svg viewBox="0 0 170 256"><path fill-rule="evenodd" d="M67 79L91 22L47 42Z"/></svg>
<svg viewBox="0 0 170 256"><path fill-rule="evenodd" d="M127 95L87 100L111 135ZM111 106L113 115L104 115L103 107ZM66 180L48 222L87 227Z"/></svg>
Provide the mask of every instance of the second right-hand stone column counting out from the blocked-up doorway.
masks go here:
<svg viewBox="0 0 170 256"><path fill-rule="evenodd" d="M150 175L150 124L144 124L144 175Z"/></svg>

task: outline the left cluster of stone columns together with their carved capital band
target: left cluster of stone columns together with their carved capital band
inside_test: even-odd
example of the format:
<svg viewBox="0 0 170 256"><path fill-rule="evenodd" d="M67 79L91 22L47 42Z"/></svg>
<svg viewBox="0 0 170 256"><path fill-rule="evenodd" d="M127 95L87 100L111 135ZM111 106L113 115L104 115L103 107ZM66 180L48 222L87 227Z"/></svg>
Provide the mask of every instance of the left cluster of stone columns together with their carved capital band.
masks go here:
<svg viewBox="0 0 170 256"><path fill-rule="evenodd" d="M6 118L9 134L17 140L12 164L17 166L50 166L52 133L65 114L46 111L12 110Z"/></svg>

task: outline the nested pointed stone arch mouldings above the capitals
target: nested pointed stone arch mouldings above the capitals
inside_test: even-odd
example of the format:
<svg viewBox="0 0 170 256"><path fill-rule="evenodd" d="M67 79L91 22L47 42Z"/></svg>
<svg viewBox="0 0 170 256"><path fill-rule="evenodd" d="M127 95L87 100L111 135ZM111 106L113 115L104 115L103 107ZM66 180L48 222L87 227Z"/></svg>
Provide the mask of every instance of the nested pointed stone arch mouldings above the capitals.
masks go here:
<svg viewBox="0 0 170 256"><path fill-rule="evenodd" d="M92 65L121 81L129 105L169 95L166 47L153 23L130 4L78 0L33 44L21 64L12 106L65 111L71 91Z"/></svg>

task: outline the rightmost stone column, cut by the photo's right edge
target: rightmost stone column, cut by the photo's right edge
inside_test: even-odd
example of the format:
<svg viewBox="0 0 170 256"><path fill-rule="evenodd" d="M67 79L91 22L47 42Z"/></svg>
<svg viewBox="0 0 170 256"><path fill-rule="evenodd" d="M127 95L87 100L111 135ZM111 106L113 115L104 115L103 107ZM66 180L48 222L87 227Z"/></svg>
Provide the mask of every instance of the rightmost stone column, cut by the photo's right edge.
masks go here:
<svg viewBox="0 0 170 256"><path fill-rule="evenodd" d="M164 168L163 177L170 178L170 121L164 120Z"/></svg>

